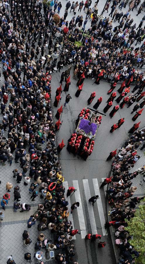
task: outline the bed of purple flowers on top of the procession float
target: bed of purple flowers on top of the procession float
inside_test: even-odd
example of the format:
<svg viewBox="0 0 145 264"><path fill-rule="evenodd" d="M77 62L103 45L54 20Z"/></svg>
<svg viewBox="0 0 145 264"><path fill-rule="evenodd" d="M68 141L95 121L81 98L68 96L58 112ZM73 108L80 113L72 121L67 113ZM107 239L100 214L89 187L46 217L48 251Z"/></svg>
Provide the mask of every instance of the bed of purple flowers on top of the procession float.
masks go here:
<svg viewBox="0 0 145 264"><path fill-rule="evenodd" d="M89 122L90 121L87 119L81 119L78 128L80 128L80 130L83 130L86 134L89 134L91 132L92 135L94 136L94 134L96 133L97 124L92 123L91 125L89 125Z"/></svg>

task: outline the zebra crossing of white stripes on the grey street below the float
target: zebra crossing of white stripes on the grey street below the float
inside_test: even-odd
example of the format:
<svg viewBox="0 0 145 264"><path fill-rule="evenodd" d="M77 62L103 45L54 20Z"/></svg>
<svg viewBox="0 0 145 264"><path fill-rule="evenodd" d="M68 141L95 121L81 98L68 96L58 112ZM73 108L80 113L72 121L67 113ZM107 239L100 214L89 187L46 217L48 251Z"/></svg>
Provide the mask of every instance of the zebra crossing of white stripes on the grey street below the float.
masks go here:
<svg viewBox="0 0 145 264"><path fill-rule="evenodd" d="M105 178L102 178L102 181L104 179ZM72 222L73 229L80 229L81 230L82 239L85 238L85 236L88 233L88 231L87 231L88 230L87 229L87 224L88 223L85 223L85 219L86 219L85 212L87 210L88 211L88 215L89 215L89 224L90 224L92 233L93 234L95 234L95 233L99 233L100 234L100 229L97 231L96 219L95 219L95 215L94 215L94 210L96 210L96 204L97 204L97 209L98 209L98 212L99 212L99 215L97 217L97 221L98 221L98 219L100 219L102 235L103 236L107 236L108 233L106 233L106 230L105 230L105 227L104 227L104 225L105 225L105 216L104 216L104 211L103 211L103 205L102 205L102 200L101 200L98 180L97 179L92 179L95 195L97 195L97 194L99 195L99 199L97 199L94 207L92 206L92 203L89 202L89 198L92 197L93 195L91 195L91 192L90 192L90 189L89 189L88 179L82 180L82 190L83 190L83 192L85 194L85 201L84 202L83 202L84 197L81 197L81 194L80 194L80 188L79 188L78 180L73 180L72 182L73 182L73 185L71 185L71 186L73 186L75 189L77 189L77 191L74 194L75 195L75 201L80 203L80 206L77 207L77 210L75 210L75 211L77 211L77 216L78 216L80 228L79 228L78 224L77 224L77 226L74 226L73 213L69 215L69 220L71 220L71 222ZM65 187L65 196L66 196L66 193L67 193L67 190L68 190L68 182L67 181L63 182L63 185ZM106 191L106 186L104 186L104 191ZM105 192L105 194L106 194L106 192ZM70 201L71 200L70 197L67 197L67 200L68 200L68 203L69 203L68 209L69 209L69 211L71 211L70 207L71 207L71 204L73 204L74 202ZM87 204L87 208L86 208L86 205L84 207L84 204ZM87 222L88 222L88 219L87 219ZM76 239L76 237L74 236L73 239Z"/></svg>

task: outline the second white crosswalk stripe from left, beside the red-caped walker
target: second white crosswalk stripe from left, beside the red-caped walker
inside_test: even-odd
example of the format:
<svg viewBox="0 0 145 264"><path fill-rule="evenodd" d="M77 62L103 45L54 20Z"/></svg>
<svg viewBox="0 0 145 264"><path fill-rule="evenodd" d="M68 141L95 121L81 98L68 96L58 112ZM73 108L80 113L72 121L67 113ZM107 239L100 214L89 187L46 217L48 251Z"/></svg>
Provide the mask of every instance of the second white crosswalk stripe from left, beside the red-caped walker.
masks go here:
<svg viewBox="0 0 145 264"><path fill-rule="evenodd" d="M82 230L81 236L82 236L82 238L85 238L85 236L87 235L87 232L86 232L86 225L85 225L85 221L84 221L84 214L83 214L83 209L82 209L82 202L81 202L81 197L80 197L79 185L78 185L77 180L74 180L72 182L73 182L73 186L75 187L75 189L77 189L77 191L75 192L75 200L76 200L76 202L80 203L80 206L77 207L77 214L78 214L78 218L79 218L80 229Z"/></svg>

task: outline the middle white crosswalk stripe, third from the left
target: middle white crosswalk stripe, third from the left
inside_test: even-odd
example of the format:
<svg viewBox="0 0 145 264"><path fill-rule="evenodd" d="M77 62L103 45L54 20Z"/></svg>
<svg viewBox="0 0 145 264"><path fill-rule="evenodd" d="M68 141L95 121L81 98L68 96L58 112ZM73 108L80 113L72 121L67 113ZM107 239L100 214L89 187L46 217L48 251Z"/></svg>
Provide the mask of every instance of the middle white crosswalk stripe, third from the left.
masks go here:
<svg viewBox="0 0 145 264"><path fill-rule="evenodd" d="M87 208L88 208L88 213L89 213L92 234L97 234L93 206L92 206L92 202L89 202L89 199L91 198L91 194L89 190L88 180L83 180L83 184L84 184L84 192L86 196L86 202L87 202Z"/></svg>

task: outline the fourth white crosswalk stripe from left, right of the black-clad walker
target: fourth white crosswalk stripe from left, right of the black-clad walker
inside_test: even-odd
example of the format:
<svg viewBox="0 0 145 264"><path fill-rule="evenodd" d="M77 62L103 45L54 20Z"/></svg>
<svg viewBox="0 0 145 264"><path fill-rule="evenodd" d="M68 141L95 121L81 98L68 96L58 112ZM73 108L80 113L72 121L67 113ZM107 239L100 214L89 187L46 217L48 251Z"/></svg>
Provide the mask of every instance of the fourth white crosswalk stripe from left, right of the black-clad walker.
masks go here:
<svg viewBox="0 0 145 264"><path fill-rule="evenodd" d="M97 199L97 205L98 205L98 211L99 211L99 217L100 217L103 236L107 236L108 234L106 233L106 230L104 227L105 216L104 216L104 212L103 212L103 205L102 205L102 201L101 201L100 190L99 190L99 185L98 185L97 179L93 179L93 185L94 185L95 195L99 195L99 197L100 197L100 199Z"/></svg>

